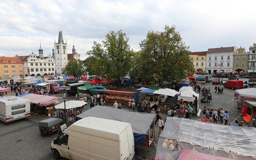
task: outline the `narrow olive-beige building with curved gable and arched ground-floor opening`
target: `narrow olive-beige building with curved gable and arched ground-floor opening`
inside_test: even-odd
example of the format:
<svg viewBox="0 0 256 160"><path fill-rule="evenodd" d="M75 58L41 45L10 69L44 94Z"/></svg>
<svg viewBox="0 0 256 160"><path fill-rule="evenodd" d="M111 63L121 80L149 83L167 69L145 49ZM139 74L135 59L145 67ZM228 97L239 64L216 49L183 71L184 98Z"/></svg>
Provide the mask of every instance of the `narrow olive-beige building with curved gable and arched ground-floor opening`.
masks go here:
<svg viewBox="0 0 256 160"><path fill-rule="evenodd" d="M240 46L233 55L233 71L243 71L248 70L248 53L245 49Z"/></svg>

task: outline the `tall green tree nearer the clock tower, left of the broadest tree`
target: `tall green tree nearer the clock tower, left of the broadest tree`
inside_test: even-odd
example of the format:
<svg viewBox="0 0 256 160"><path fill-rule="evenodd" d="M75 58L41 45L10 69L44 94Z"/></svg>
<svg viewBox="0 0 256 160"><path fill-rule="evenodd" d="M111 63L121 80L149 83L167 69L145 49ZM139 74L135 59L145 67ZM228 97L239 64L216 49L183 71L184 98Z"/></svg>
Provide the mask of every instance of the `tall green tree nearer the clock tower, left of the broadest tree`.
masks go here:
<svg viewBox="0 0 256 160"><path fill-rule="evenodd" d="M128 44L129 38L122 30L109 31L102 44L94 42L92 50L87 52L87 71L90 74L120 80L132 67L133 51Z"/></svg>

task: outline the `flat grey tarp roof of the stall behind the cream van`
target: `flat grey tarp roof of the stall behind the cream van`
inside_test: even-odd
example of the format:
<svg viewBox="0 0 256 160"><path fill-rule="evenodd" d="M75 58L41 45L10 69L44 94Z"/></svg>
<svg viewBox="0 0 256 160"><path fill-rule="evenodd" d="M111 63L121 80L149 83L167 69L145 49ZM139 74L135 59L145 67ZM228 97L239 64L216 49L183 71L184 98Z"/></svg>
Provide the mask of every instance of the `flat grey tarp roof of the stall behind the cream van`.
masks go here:
<svg viewBox="0 0 256 160"><path fill-rule="evenodd" d="M117 109L104 106L95 106L77 115L79 119L85 117L98 117L109 120L127 122L132 125L133 133L146 134L155 114L133 112L124 109Z"/></svg>

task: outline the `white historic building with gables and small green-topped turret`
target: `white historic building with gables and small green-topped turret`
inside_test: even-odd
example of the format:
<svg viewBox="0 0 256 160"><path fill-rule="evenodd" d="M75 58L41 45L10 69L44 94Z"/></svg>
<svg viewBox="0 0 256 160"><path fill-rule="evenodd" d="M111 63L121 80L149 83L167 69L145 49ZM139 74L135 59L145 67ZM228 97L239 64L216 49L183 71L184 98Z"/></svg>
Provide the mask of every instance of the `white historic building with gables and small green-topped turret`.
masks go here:
<svg viewBox="0 0 256 160"><path fill-rule="evenodd" d="M47 57L43 56L43 49L39 48L39 56L33 52L28 56L18 56L24 63L24 75L25 76L37 76L37 75L54 75L55 74L55 59L49 54Z"/></svg>

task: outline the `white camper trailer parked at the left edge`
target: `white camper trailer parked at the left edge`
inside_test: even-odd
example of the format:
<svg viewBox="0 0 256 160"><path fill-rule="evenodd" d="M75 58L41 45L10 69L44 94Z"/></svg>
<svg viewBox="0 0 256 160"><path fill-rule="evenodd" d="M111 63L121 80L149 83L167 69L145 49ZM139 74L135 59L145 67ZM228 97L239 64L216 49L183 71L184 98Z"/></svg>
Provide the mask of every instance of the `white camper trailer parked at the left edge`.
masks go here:
<svg viewBox="0 0 256 160"><path fill-rule="evenodd" d="M11 122L30 116L30 101L16 96L0 97L0 120Z"/></svg>

